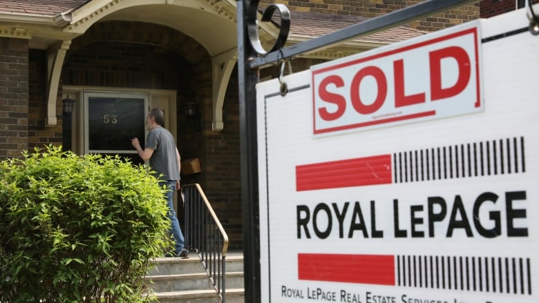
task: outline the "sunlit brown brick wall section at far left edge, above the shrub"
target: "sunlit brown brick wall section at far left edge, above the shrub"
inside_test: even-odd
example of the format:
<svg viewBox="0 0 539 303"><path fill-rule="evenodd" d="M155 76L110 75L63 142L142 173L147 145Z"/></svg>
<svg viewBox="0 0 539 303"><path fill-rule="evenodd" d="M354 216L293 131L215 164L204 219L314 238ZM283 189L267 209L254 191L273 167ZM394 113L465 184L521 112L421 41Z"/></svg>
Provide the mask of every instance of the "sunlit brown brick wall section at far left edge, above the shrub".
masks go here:
<svg viewBox="0 0 539 303"><path fill-rule="evenodd" d="M28 40L0 38L0 159L28 150Z"/></svg>

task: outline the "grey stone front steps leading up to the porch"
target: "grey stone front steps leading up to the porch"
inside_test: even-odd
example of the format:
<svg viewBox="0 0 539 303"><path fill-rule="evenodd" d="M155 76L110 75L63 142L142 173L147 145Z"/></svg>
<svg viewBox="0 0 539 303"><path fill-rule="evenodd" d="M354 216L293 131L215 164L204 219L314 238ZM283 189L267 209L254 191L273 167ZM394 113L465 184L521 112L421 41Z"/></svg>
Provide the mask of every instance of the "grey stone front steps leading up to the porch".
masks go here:
<svg viewBox="0 0 539 303"><path fill-rule="evenodd" d="M244 303L243 255L227 255L225 302ZM198 255L189 259L179 257L158 258L155 268L146 277L148 285L160 303L219 303L220 298L211 283Z"/></svg>

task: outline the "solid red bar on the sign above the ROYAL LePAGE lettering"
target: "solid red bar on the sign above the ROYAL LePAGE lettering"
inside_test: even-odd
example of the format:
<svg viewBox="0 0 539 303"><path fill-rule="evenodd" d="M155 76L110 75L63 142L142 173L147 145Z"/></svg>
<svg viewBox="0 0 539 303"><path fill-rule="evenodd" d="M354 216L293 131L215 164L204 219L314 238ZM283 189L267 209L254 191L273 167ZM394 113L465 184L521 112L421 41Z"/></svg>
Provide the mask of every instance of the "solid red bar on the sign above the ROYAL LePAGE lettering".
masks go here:
<svg viewBox="0 0 539 303"><path fill-rule="evenodd" d="M296 166L296 190L391 183L391 155Z"/></svg>

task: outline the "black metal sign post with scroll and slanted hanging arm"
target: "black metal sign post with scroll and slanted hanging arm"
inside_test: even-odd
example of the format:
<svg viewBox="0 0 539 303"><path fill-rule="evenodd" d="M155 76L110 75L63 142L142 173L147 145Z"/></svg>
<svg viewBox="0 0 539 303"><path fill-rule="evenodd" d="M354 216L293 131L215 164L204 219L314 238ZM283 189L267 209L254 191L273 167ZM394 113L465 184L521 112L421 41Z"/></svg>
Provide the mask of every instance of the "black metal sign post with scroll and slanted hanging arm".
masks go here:
<svg viewBox="0 0 539 303"><path fill-rule="evenodd" d="M477 0L427 0L380 17L357 23L328 35L282 48L290 28L290 13L281 4L268 6L261 21L270 21L278 10L281 31L273 48L266 52L258 40L259 0L238 0L238 84L240 106L240 159L243 208L243 255L245 302L261 302L260 226L258 212L258 149L256 130L256 84L258 69L304 52L370 35L415 19L463 6ZM283 248L285 251L286 248Z"/></svg>

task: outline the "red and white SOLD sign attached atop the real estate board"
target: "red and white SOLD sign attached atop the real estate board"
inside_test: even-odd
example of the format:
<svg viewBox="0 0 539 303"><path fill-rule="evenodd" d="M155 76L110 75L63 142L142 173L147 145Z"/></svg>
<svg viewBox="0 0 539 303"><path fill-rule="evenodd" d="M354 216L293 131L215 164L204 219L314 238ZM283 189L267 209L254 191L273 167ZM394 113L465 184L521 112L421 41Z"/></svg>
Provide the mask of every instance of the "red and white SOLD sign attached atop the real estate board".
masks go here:
<svg viewBox="0 0 539 303"><path fill-rule="evenodd" d="M476 26L313 66L313 134L426 121L483 109Z"/></svg>

